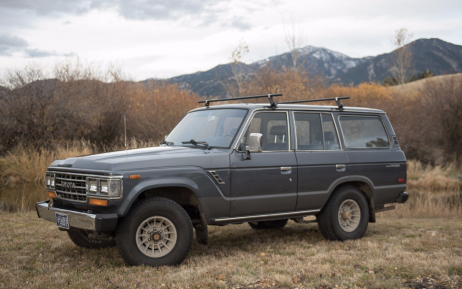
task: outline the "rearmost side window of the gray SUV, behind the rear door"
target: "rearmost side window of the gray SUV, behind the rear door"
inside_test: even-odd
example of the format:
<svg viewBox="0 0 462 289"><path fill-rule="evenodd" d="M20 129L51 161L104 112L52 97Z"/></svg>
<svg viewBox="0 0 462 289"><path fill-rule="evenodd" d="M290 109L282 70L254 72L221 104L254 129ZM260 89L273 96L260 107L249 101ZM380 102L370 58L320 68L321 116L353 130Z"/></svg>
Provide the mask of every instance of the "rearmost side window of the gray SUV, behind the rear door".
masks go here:
<svg viewBox="0 0 462 289"><path fill-rule="evenodd" d="M388 147L387 132L376 116L340 116L340 126L348 148Z"/></svg>

